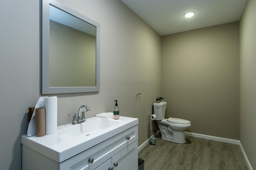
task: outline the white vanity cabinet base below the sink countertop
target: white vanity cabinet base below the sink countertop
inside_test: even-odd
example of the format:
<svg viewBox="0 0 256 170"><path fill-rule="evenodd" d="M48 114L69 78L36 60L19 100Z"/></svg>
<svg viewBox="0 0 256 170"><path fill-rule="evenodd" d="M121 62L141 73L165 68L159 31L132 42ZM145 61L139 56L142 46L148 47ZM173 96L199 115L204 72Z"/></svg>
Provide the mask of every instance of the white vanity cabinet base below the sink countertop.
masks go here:
<svg viewBox="0 0 256 170"><path fill-rule="evenodd" d="M137 170L138 125L130 127L63 162L22 145L23 170Z"/></svg>

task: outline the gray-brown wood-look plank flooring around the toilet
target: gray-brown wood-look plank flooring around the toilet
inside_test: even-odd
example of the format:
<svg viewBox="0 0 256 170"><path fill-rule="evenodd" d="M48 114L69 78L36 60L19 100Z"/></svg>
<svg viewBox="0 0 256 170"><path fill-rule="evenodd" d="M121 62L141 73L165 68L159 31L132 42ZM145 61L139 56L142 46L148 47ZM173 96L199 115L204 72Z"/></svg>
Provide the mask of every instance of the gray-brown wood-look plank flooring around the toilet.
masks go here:
<svg viewBox="0 0 256 170"><path fill-rule="evenodd" d="M186 136L186 144L161 139L138 153L144 170L248 170L239 145Z"/></svg>

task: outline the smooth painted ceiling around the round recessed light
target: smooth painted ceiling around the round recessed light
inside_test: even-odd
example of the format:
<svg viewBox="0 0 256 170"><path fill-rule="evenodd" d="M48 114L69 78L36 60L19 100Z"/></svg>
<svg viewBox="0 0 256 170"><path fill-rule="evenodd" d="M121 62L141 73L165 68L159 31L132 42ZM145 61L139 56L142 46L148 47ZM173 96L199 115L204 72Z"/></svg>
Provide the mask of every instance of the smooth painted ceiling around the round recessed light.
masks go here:
<svg viewBox="0 0 256 170"><path fill-rule="evenodd" d="M247 0L122 0L160 35L239 21ZM192 18L184 13L194 11Z"/></svg>

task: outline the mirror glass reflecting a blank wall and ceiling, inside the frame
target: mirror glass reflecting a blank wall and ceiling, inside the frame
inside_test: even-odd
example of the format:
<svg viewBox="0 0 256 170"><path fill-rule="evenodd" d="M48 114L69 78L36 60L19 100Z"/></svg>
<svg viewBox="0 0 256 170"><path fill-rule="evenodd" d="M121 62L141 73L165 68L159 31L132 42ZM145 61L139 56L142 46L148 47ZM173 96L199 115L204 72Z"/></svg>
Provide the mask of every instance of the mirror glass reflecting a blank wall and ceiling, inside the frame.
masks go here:
<svg viewBox="0 0 256 170"><path fill-rule="evenodd" d="M50 87L96 86L96 27L49 9Z"/></svg>

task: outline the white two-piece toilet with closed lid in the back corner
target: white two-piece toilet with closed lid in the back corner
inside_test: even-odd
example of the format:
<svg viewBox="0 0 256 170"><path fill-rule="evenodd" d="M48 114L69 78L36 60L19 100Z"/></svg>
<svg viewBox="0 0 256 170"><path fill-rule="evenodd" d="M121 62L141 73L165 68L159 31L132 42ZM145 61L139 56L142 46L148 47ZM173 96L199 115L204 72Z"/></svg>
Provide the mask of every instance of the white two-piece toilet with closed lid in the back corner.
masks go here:
<svg viewBox="0 0 256 170"><path fill-rule="evenodd" d="M174 143L186 143L184 130L191 126L190 121L172 117L164 119L166 104L166 102L153 103L155 120L162 139Z"/></svg>

